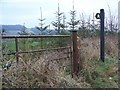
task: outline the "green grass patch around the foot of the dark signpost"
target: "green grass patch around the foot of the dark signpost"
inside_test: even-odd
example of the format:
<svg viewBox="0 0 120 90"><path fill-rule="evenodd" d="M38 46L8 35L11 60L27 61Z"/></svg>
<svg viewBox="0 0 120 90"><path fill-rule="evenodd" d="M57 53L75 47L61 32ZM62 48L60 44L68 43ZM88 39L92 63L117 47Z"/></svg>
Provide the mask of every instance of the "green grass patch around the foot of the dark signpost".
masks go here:
<svg viewBox="0 0 120 90"><path fill-rule="evenodd" d="M94 60L85 72L86 78L94 88L118 88L118 60L106 58L103 63ZM89 72L89 73L88 73Z"/></svg>

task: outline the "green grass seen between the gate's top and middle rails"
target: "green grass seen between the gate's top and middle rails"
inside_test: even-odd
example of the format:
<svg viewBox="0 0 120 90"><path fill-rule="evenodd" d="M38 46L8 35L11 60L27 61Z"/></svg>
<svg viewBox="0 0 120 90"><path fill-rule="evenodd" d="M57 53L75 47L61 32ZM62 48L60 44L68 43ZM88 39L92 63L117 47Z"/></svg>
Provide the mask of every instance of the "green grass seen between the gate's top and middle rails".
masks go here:
<svg viewBox="0 0 120 90"><path fill-rule="evenodd" d="M69 42L69 38L29 38L18 39L18 48L22 51L56 48L66 46ZM16 46L14 40L8 40L2 44L3 51L7 53L16 52Z"/></svg>

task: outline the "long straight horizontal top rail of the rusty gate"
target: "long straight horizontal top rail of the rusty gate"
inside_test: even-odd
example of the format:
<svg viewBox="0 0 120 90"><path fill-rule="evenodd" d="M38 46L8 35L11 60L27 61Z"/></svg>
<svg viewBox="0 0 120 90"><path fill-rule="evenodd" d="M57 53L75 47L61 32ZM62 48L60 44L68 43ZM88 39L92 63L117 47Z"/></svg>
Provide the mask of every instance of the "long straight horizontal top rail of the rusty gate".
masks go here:
<svg viewBox="0 0 120 90"><path fill-rule="evenodd" d="M0 38L61 38L70 37L70 35L17 35L17 36L0 36Z"/></svg>

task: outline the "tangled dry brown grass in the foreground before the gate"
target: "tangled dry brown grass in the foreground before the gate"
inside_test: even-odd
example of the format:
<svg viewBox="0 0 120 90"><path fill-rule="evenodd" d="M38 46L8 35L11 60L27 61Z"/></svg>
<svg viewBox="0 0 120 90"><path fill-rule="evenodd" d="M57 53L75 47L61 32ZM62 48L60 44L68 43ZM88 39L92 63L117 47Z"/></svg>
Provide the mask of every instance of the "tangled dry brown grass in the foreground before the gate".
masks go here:
<svg viewBox="0 0 120 90"><path fill-rule="evenodd" d="M37 60L30 56L27 61L21 59L18 65L15 63L4 71L3 86L6 88L90 88L82 77L73 79L70 74L66 75L66 69L70 68L69 59L48 60L53 55L54 52L47 52L46 56L39 57Z"/></svg>

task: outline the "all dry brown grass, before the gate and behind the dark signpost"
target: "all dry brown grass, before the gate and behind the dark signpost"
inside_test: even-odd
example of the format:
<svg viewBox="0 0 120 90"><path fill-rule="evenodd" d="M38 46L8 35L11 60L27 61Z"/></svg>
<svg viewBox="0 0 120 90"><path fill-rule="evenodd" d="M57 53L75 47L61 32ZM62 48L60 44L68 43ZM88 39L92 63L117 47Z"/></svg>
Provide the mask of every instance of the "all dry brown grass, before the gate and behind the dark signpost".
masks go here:
<svg viewBox="0 0 120 90"><path fill-rule="evenodd" d="M106 37L105 41L106 56L117 58L118 43L116 37ZM90 60L98 60L100 52L99 43L98 37L81 40L80 56L84 61L84 70L87 69L89 71ZM70 73L71 68L69 67L69 58L51 61L55 56L63 56L62 53L63 51L58 55L57 52L46 52L44 56L40 55L40 53L30 54L21 58L19 64L13 62L13 65L8 70L3 70L3 86L8 88L90 88L91 85L85 82L84 77L71 78L70 74L66 74ZM95 69L95 67L96 66L93 66L93 69ZM66 72L66 69L69 70ZM89 79L91 78L89 75Z"/></svg>

